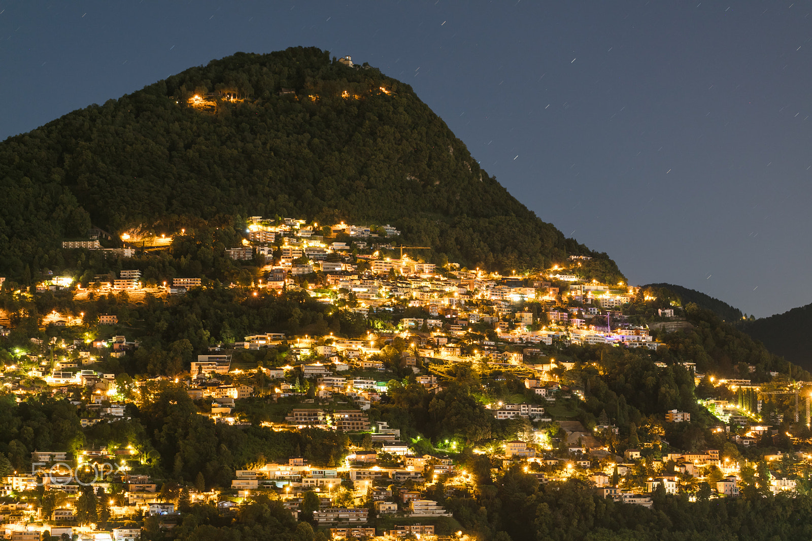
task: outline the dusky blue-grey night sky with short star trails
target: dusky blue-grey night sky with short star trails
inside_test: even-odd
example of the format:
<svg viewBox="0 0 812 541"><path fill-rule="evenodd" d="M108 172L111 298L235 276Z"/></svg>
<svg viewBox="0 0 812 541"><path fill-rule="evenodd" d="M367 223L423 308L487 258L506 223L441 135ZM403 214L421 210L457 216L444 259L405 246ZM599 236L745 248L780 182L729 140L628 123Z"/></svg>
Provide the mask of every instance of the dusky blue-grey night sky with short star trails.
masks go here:
<svg viewBox="0 0 812 541"><path fill-rule="evenodd" d="M0 139L235 51L411 84L630 283L812 301L810 2L2 2Z"/></svg>

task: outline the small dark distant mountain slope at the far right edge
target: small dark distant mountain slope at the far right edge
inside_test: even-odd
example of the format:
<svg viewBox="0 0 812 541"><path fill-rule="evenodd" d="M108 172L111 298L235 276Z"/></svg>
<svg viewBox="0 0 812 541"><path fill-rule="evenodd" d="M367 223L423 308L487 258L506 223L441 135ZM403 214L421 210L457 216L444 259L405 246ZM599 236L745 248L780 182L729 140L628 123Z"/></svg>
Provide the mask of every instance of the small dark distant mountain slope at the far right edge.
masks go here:
<svg viewBox="0 0 812 541"><path fill-rule="evenodd" d="M769 318L741 322L741 330L761 340L772 353L784 356L788 361L806 370L812 369L812 304L793 308L784 314Z"/></svg>

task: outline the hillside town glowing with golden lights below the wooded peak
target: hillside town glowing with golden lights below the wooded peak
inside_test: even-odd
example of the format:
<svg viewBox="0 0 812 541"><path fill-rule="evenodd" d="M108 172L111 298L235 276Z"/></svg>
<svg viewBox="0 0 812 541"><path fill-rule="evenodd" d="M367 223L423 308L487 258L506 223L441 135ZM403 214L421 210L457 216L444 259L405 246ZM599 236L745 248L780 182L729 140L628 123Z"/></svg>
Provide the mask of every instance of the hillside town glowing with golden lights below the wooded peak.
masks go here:
<svg viewBox="0 0 812 541"><path fill-rule="evenodd" d="M63 249L105 251L119 271L54 275L31 290L3 284L29 310L58 300L38 328L17 325L20 308L0 311L4 397L20 411L50 400L51 422L67 426L47 430L71 435L43 435L33 410L24 422L2 421L16 434L0 456L4 539L153 539L179 527L192 506L209 506L214 523L257 501L275 502L324 539L477 539L455 518L459 501L513 473L533 483L576 480L600 498L646 508L663 495L694 502L808 490L810 384L735 358L726 372L669 362L672 337L694 326L692 308L589 279L592 256L500 275L425 262L421 250L431 247L402 245L390 224L253 217L240 244L223 247L253 271L215 283L157 280L138 268L140 253L160 257L184 242L185 228L125 232L118 245L92 233ZM158 363L140 352L153 326L172 324L134 311L212 288L246 303L315 302L356 332L321 322L311 326L317 333L256 327L235 336L207 328L204 317L207 351L178 340L161 368L149 365L152 376L120 369L128 359ZM626 408L603 383L631 353L647 360L628 361L650 371L643 385L655 375L661 382L655 413ZM460 388L468 409L435 406ZM171 393L181 394L158 400ZM614 407L595 411L596 400ZM187 417L178 422L192 416L214 431L308 443L268 444L258 460L206 466L189 483L182 472L194 451L158 468L162 449L137 422L158 408L171 418L181 404ZM158 434L169 423L149 428ZM421 423L433 434L418 431Z"/></svg>

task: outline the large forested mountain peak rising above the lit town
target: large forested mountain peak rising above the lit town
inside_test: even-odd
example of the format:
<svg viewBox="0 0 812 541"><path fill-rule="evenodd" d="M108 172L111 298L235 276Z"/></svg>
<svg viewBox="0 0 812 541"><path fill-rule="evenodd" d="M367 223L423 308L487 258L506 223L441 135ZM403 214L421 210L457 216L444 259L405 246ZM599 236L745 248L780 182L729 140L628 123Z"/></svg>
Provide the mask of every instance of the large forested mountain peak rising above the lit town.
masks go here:
<svg viewBox="0 0 812 541"><path fill-rule="evenodd" d="M238 53L0 143L0 273L63 265L89 227L248 216L391 223L421 257L495 270L615 262L516 201L408 84L327 51ZM611 281L610 283L614 283Z"/></svg>

